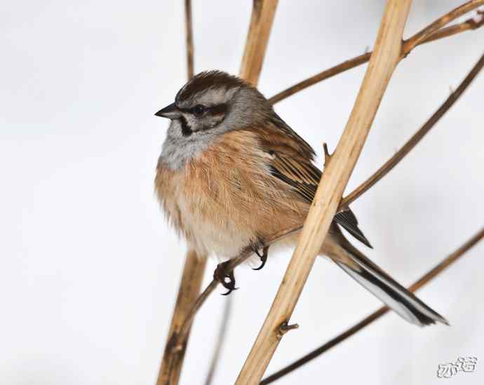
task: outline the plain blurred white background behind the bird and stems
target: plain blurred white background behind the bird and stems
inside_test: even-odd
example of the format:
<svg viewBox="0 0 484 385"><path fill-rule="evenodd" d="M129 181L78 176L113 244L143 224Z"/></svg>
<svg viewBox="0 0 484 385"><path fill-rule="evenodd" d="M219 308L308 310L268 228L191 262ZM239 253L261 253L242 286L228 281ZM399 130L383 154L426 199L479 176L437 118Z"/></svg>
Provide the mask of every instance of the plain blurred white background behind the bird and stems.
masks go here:
<svg viewBox="0 0 484 385"><path fill-rule="evenodd" d="M238 72L251 1L194 1L196 71ZM460 1L415 1L405 36ZM10 1L0 13L0 382L154 384L185 245L153 192L186 81L182 1ZM383 1L281 0L260 90L268 97L371 47ZM483 53L484 29L415 49L398 66L347 192L394 154ZM365 66L277 104L321 154L334 149ZM484 224L484 74L394 171L353 204L365 250L409 284ZM318 159L321 164L321 157ZM360 246L360 245L358 245ZM364 247L361 246L363 249ZM484 243L419 291L450 320L391 313L278 384L482 384ZM236 271L240 290L215 384L232 384L285 271ZM215 268L210 260L206 282ZM203 384L226 297L196 318L182 384ZM268 374L379 307L318 260ZM476 372L438 364L477 356Z"/></svg>

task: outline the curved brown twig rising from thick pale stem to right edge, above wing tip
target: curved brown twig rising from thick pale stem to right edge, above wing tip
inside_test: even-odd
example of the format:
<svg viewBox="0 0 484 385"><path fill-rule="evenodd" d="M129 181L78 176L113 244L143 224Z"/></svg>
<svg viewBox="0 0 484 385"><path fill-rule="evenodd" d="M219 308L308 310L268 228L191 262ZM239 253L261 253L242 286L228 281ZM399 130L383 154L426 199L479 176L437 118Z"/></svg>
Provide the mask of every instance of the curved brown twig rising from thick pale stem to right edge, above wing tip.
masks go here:
<svg viewBox="0 0 484 385"><path fill-rule="evenodd" d="M422 138L426 135L426 133L436 125L436 123L441 119L441 117L448 112L450 107L457 102L459 97L464 93L469 84L473 81L473 79L477 76L481 69L484 67L484 55L480 57L476 65L471 69L471 72L465 77L462 83L459 84L459 87L452 92L447 100L443 102L441 107L437 109L436 112L430 117L428 121L415 133L405 145L399 149L394 156L392 156L389 161L386 161L382 167L380 167L376 173L374 173L368 180L365 180L362 184L360 184L354 191L351 191L351 194L346 196L341 204L341 208L347 207L350 203L354 202L356 198L363 195L365 191L368 191L376 182L382 179L389 171L394 168L419 142Z"/></svg>

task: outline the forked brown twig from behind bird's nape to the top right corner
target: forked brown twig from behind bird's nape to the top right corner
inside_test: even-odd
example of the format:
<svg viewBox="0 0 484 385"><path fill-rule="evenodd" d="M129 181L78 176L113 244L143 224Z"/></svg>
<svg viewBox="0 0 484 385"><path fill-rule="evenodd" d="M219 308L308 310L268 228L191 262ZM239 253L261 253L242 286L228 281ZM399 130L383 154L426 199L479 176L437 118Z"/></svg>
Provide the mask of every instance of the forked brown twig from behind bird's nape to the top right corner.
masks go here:
<svg viewBox="0 0 484 385"><path fill-rule="evenodd" d="M464 7L464 6L457 8L458 10L460 10L459 15L464 15L464 13L467 13L467 12L477 8L481 4L484 4L483 0L469 1L469 3L464 4L465 8L463 8L463 9L464 9L465 12L462 13L462 7ZM439 20L447 20L447 22L445 24L447 24L448 22L450 22L452 20L455 20L455 18L452 18L452 20L449 20L449 18L448 18L448 15L450 15L450 14L455 15L455 12L456 12L456 10L451 11L450 13L442 16L441 18L439 18L438 20L433 22L431 25L436 25L436 23L441 25L441 22ZM478 11L478 15L481 15L480 11ZM429 27L426 27L426 29L430 28L431 25L429 25ZM435 40L438 40L438 39L443 39L443 38L448 37L448 36L459 34L460 32L469 31L471 29L477 29L479 27L482 27L483 25L484 25L484 18L480 18L479 21L476 21L473 18L470 18L470 19L468 19L464 22L461 22L457 25L452 25L450 27L438 29L438 30L434 31L433 33L427 35L423 40L420 40L419 37L416 34L416 35L412 36L410 39L408 39L407 41L405 41L405 43L407 45L405 46L405 48L402 51L401 58L405 58L405 56L408 55L408 53L410 53L410 51L413 48L415 48L416 46L419 46L423 43L429 43L429 41L435 41ZM424 29L424 30L426 30L426 29ZM419 34L422 34L422 32L419 32ZM411 43L407 43L408 41L410 41ZM305 88L308 88L309 86L313 86L314 84L319 83L320 81L323 81L325 79L329 79L332 76L335 76L337 74L341 74L342 72L345 72L349 69L358 67L359 65L363 65L365 62L368 62L368 60L370 60L371 55L372 55L372 52L363 53L363 55L358 55L355 58L346 60L345 62L342 62L339 65L335 65L335 67L325 69L323 72L319 72L318 74L311 76L310 78L305 79L304 81L301 81L300 83L297 83L294 86L287 88L287 89L281 91L280 93L274 95L273 97L271 97L269 99L269 102L271 104L276 104L277 102L281 102L281 100L285 99L286 97L290 97L291 95L294 95L295 93L298 93L299 91L304 90Z"/></svg>

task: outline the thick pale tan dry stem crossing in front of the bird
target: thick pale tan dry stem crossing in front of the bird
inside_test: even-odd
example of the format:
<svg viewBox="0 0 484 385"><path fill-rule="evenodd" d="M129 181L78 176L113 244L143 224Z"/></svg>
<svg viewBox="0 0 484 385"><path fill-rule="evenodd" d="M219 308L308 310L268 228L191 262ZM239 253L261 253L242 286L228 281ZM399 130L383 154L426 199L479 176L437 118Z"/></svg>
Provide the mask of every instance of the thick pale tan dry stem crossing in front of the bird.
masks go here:
<svg viewBox="0 0 484 385"><path fill-rule="evenodd" d="M281 339L278 329L293 313L314 259L340 203L363 144L382 100L391 74L401 58L402 33L411 0L389 0L379 28L375 51L356 98L344 133L323 173L302 229L300 242L290 260L269 314L262 325L236 385L259 384Z"/></svg>

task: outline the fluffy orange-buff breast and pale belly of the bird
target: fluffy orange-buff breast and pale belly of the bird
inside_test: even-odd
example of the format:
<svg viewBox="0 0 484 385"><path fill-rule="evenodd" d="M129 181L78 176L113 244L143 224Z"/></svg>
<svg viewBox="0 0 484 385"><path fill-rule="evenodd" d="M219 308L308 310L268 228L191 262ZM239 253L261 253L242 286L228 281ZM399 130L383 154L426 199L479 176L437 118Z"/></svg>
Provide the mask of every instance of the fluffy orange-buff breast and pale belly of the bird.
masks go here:
<svg viewBox="0 0 484 385"><path fill-rule="evenodd" d="M234 257L250 241L300 223L307 205L264 166L248 131L224 134L184 168L159 164L155 187L175 229L200 252Z"/></svg>

